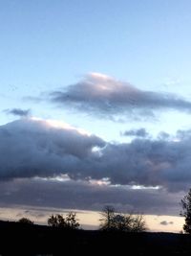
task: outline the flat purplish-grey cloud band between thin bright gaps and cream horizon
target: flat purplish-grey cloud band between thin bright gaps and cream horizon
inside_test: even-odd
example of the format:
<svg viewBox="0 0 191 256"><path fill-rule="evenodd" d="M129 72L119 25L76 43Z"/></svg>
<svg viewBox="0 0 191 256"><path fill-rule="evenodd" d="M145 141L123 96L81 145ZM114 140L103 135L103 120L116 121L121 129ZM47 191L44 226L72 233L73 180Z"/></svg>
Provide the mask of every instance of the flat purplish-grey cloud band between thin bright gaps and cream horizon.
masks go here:
<svg viewBox="0 0 191 256"><path fill-rule="evenodd" d="M182 193L165 189L132 189L130 186L92 184L88 181L55 181L21 178L1 182L0 206L28 205L100 211L106 204L121 212L179 215Z"/></svg>

